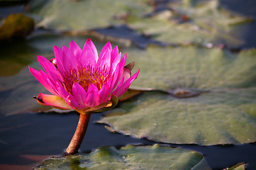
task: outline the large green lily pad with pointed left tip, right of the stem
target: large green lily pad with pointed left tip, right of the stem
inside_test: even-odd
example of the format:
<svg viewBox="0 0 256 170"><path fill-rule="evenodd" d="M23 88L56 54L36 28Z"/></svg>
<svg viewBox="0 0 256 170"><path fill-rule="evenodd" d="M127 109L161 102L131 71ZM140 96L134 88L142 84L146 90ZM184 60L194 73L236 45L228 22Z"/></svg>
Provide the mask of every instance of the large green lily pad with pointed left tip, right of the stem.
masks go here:
<svg viewBox="0 0 256 170"><path fill-rule="evenodd" d="M99 123L125 135L158 142L198 145L255 142L255 96L256 88L182 99L150 91L109 111Z"/></svg>

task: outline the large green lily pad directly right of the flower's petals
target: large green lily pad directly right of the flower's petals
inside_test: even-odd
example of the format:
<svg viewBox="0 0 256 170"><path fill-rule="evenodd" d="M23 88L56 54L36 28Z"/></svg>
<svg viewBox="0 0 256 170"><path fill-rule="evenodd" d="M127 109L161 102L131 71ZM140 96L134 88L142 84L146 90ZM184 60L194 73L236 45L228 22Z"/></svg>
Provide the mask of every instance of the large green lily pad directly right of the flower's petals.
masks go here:
<svg viewBox="0 0 256 170"><path fill-rule="evenodd" d="M255 49L232 53L195 46L149 46L146 50L131 47L125 52L128 62L135 62L134 69L140 69L132 89L173 94L180 88L208 91L256 85Z"/></svg>

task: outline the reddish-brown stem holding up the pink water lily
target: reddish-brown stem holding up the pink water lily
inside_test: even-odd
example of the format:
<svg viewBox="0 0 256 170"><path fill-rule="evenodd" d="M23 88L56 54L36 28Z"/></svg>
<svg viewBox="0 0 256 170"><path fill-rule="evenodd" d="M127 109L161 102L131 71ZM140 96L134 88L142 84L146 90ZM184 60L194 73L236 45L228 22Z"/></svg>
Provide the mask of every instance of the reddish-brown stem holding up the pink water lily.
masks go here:
<svg viewBox="0 0 256 170"><path fill-rule="evenodd" d="M84 139L85 132L87 132L87 126L89 124L91 113L81 114L79 122L77 124L77 129L74 132L74 136L66 149L68 154L76 154L78 149Z"/></svg>

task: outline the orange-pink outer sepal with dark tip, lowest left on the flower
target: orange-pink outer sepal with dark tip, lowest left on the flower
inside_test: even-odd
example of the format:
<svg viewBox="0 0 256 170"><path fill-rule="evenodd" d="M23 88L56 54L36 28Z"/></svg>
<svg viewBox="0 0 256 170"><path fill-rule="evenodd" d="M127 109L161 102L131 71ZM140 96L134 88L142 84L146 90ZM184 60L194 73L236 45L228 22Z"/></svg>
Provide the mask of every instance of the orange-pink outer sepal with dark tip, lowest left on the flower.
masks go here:
<svg viewBox="0 0 256 170"><path fill-rule="evenodd" d="M72 109L70 106L67 105L65 100L58 96L54 95L49 95L49 94L38 94L38 97L36 98L38 100L38 103L45 105L45 106L52 106L55 108L60 108L60 109Z"/></svg>

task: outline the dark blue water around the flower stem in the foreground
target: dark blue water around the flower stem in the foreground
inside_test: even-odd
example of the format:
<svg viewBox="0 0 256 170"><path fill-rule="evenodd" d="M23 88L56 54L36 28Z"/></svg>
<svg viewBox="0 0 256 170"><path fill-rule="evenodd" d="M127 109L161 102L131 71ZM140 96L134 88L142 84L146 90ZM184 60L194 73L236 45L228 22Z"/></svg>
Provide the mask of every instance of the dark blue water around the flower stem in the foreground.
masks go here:
<svg viewBox="0 0 256 170"><path fill-rule="evenodd" d="M94 123L101 113L91 115L80 152L90 152L102 146L121 147L128 144L154 145L146 139L111 133L104 125ZM76 128L77 113L27 113L0 119L0 164L33 164L23 155L57 155L69 144ZM204 154L212 169L224 169L238 162L249 163L247 169L256 169L256 144L245 145L170 145L192 149Z"/></svg>

